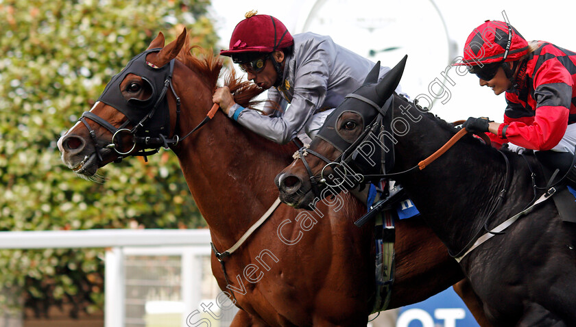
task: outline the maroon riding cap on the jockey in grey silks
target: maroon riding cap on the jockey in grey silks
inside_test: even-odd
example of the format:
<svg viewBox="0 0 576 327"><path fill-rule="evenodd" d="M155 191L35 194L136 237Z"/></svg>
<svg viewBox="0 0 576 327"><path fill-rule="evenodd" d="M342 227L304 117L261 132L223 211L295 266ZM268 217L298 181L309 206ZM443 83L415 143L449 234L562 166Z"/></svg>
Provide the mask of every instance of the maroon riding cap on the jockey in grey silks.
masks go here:
<svg viewBox="0 0 576 327"><path fill-rule="evenodd" d="M254 15L248 12L246 19L236 25L230 38L230 49L221 55L237 53L270 53L294 44L294 39L281 21L269 15Z"/></svg>

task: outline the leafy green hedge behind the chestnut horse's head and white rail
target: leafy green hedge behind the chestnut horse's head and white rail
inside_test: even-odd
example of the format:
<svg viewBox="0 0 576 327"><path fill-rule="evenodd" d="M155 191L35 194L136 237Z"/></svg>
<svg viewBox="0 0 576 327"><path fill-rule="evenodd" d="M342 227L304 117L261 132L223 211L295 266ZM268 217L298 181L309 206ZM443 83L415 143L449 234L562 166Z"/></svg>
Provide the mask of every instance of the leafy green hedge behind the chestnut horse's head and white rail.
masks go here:
<svg viewBox="0 0 576 327"><path fill-rule="evenodd" d="M176 157L108 165L108 181L79 179L56 141L110 77L162 31L187 27L213 47L209 0L0 0L0 230L195 228L204 220ZM76 303L102 308L103 249L0 251L4 289L24 287L37 315ZM0 296L0 302L3 296Z"/></svg>

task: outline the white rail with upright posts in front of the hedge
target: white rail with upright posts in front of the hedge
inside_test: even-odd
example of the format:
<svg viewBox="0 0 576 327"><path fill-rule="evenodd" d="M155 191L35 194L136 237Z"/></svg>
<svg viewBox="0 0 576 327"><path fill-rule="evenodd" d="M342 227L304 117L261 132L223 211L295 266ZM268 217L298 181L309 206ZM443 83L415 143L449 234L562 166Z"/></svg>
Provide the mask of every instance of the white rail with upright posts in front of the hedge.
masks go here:
<svg viewBox="0 0 576 327"><path fill-rule="evenodd" d="M125 326L125 267L128 255L180 255L182 302L190 311L200 302L201 257L211 254L208 229L92 229L84 231L2 231L0 249L107 248L104 326ZM189 313L182 313L187 326Z"/></svg>

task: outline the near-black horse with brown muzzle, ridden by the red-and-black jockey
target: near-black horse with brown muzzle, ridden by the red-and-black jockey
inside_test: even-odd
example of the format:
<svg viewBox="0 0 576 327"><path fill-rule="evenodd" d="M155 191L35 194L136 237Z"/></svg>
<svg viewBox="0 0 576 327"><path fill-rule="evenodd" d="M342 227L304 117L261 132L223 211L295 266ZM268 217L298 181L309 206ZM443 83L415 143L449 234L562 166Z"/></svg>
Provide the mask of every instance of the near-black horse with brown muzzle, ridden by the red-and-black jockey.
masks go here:
<svg viewBox="0 0 576 327"><path fill-rule="evenodd" d="M359 175L394 179L459 260L494 326L576 326L576 226L560 219L553 201L542 200L503 233L485 232L549 198L535 157L465 135L435 161L416 165L458 130L394 94L405 62L379 83L372 72L328 116L304 149L306 163L296 159L276 177L280 198L310 207L314 183L324 189ZM382 165L383 154L393 155ZM492 238L473 248L481 234Z"/></svg>

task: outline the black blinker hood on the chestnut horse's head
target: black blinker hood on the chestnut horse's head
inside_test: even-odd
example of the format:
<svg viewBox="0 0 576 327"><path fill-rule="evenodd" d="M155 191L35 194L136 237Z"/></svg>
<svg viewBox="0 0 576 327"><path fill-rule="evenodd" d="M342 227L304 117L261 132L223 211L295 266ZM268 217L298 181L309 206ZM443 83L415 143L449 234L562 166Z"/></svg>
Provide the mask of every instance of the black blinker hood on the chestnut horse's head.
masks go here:
<svg viewBox="0 0 576 327"><path fill-rule="evenodd" d="M104 92L97 101L101 101L117 109L124 114L132 125L137 128L138 134L163 133L169 135L170 118L168 103L165 96L166 81L171 79L173 60L163 67L156 67L146 62L146 56L152 52L158 52L161 48L149 49L136 55L125 68L112 77ZM152 88L149 99L124 99L120 90L120 84L128 74L138 75ZM161 101L161 102L160 102ZM166 109L164 109L166 108ZM154 110L154 113L152 111ZM137 125L149 114L152 116L145 120L143 127Z"/></svg>

